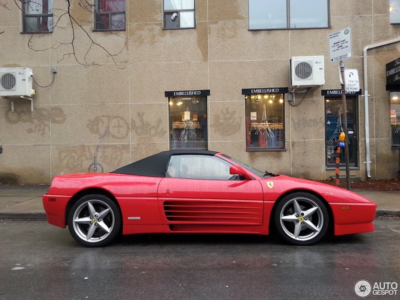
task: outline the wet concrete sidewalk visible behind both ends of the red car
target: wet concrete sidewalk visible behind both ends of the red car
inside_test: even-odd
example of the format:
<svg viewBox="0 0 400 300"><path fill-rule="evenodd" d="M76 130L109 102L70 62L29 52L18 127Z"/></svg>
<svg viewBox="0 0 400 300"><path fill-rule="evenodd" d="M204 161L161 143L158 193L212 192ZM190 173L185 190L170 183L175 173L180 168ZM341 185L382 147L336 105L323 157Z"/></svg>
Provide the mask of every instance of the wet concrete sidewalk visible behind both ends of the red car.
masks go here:
<svg viewBox="0 0 400 300"><path fill-rule="evenodd" d="M50 186L0 185L0 219L46 219L42 195ZM353 190L378 204L376 216L400 216L400 193Z"/></svg>

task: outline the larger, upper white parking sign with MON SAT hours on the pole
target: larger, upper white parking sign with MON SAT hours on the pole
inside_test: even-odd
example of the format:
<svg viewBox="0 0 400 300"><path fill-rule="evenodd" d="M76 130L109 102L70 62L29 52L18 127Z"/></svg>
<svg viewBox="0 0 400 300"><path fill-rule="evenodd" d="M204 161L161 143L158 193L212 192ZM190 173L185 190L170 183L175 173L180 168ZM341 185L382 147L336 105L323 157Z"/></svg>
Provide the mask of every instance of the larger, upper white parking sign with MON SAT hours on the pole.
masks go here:
<svg viewBox="0 0 400 300"><path fill-rule="evenodd" d="M345 28L328 35L329 61L338 62L351 57L351 30Z"/></svg>

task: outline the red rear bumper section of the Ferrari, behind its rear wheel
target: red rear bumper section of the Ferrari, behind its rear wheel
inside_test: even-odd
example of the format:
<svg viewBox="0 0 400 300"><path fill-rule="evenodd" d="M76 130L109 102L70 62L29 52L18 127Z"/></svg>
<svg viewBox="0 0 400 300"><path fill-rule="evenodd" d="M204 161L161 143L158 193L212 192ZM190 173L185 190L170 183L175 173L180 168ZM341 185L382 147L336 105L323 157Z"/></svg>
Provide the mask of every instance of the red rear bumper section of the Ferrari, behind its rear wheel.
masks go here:
<svg viewBox="0 0 400 300"><path fill-rule="evenodd" d="M66 207L71 196L44 194L42 196L47 222L61 228L66 227Z"/></svg>

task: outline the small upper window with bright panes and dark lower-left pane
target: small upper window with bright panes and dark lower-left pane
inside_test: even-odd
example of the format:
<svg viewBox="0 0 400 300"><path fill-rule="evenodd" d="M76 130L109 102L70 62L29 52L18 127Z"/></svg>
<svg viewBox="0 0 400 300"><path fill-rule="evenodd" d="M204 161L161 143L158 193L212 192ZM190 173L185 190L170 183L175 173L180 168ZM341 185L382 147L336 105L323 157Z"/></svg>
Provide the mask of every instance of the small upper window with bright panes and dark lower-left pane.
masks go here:
<svg viewBox="0 0 400 300"><path fill-rule="evenodd" d="M195 28L194 0L164 0L164 29Z"/></svg>

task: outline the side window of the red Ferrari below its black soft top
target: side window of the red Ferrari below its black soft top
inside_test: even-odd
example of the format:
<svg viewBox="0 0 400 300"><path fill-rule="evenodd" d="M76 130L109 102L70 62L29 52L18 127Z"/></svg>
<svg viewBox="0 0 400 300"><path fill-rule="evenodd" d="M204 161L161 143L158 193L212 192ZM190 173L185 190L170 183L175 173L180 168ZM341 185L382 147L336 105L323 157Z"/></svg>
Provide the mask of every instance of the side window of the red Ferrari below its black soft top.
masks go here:
<svg viewBox="0 0 400 300"><path fill-rule="evenodd" d="M238 180L239 176L229 174L230 162L210 155L172 155L168 164L166 177Z"/></svg>

